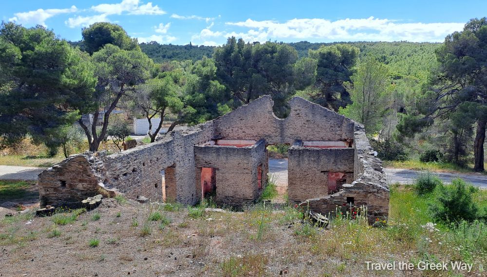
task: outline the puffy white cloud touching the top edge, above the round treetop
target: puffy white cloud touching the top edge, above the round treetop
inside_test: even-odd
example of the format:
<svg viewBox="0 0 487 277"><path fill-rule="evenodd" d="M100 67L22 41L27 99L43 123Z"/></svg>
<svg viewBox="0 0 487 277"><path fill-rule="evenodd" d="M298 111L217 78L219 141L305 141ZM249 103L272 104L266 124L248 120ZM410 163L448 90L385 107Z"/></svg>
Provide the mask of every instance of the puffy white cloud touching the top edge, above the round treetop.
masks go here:
<svg viewBox="0 0 487 277"><path fill-rule="evenodd" d="M99 4L92 6L95 12L106 15L121 15L127 12L129 15L163 15L166 12L161 10L157 5L152 6L151 2L145 5L139 5L139 0L122 0L116 4Z"/></svg>

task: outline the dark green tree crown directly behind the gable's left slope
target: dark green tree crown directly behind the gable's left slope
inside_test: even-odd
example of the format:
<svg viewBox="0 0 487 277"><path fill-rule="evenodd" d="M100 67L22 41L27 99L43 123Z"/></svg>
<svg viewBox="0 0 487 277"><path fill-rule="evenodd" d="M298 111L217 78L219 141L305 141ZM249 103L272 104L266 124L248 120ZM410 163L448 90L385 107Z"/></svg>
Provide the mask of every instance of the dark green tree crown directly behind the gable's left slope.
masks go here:
<svg viewBox="0 0 487 277"><path fill-rule="evenodd" d="M294 94L297 53L292 47L272 42L246 43L229 37L213 54L216 75L232 97L248 104L263 94L271 94L274 112L287 114L286 100ZM296 70L296 71L295 71Z"/></svg>

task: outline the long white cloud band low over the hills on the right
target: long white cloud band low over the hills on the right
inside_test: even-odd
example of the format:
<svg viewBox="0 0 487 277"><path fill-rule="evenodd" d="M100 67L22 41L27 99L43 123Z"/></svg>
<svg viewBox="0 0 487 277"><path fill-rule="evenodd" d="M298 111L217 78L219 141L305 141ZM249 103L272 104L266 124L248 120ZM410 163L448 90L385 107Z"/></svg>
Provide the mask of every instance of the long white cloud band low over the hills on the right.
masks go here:
<svg viewBox="0 0 487 277"><path fill-rule="evenodd" d="M397 41L414 42L443 41L445 36L463 29L464 23L400 23L390 19L374 17L341 19L330 21L322 18L295 18L284 23L271 20L256 21L247 19L241 22L226 22L231 26L249 28L241 33L224 33L223 36L235 35L249 41L269 39L320 39L327 41ZM202 30L201 39L215 36L208 30Z"/></svg>

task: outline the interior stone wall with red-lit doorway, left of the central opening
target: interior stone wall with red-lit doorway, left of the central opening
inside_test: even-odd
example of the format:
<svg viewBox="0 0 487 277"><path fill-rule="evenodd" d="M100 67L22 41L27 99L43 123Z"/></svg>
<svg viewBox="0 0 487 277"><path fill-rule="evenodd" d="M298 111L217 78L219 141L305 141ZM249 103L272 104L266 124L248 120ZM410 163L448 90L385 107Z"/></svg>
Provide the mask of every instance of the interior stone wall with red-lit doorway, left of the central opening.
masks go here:
<svg viewBox="0 0 487 277"><path fill-rule="evenodd" d="M253 202L259 197L257 166L265 162L265 142L252 146L235 147L206 145L194 146L196 167L216 168L215 201L231 206ZM196 190L201 180L196 178Z"/></svg>

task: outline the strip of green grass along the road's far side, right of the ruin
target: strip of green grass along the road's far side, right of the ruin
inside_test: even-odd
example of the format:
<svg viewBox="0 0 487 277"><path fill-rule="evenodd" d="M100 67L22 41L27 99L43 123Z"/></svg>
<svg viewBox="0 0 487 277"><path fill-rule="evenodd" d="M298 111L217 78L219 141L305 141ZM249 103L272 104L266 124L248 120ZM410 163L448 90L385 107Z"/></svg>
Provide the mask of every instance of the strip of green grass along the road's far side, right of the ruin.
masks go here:
<svg viewBox="0 0 487 277"><path fill-rule="evenodd" d="M415 159L405 161L382 161L382 166L386 168L407 168L413 170L427 170L437 172L469 173L473 171L472 165L468 165L468 167L461 167L459 165L449 162L422 162ZM484 172L484 174L486 173Z"/></svg>

